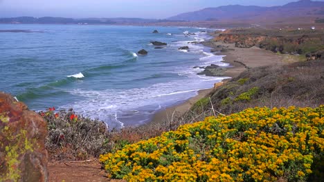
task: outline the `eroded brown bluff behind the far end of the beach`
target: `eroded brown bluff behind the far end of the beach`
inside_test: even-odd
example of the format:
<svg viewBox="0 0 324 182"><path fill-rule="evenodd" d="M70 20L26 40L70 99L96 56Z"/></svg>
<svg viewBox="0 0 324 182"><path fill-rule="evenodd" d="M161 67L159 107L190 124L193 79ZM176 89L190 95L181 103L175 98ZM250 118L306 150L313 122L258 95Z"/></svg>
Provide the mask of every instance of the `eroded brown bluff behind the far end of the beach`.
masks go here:
<svg viewBox="0 0 324 182"><path fill-rule="evenodd" d="M324 50L324 34L289 30L226 30L215 37L214 41L235 43L237 48L257 46L282 54L309 54L308 59L321 59ZM316 54L316 56L314 56ZM323 55L324 57L324 55Z"/></svg>

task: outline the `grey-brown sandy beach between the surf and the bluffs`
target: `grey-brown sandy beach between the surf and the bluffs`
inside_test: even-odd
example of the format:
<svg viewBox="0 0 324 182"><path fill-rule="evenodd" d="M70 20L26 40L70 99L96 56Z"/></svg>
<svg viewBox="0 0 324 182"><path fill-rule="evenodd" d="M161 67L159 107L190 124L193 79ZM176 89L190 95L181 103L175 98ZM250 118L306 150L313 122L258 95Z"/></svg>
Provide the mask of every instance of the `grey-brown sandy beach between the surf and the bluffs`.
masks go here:
<svg viewBox="0 0 324 182"><path fill-rule="evenodd" d="M248 68L256 68L265 65L282 65L284 63L284 57L275 54L269 50L262 50L257 47L253 48L235 48L234 43L222 43L209 41L206 46L210 48L216 48L217 45L222 45L223 52L215 52L217 55L224 55L224 63L229 63L231 68L228 68L224 72L224 77L237 77ZM210 85L213 87L213 85ZM152 118L151 123L164 123L172 121L172 118L181 117L186 113L193 104L199 99L206 97L214 88L199 90L197 96L192 97L179 105L166 108L157 112ZM217 88L216 88L217 89Z"/></svg>

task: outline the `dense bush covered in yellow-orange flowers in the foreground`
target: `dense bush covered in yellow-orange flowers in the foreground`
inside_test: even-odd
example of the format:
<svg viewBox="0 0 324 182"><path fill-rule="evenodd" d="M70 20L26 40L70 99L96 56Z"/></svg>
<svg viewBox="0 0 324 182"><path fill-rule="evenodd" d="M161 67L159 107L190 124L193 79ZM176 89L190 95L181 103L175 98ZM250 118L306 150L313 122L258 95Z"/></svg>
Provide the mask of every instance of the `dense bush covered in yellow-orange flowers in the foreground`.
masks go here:
<svg viewBox="0 0 324 182"><path fill-rule="evenodd" d="M324 105L208 117L100 156L127 181L305 181L324 152Z"/></svg>

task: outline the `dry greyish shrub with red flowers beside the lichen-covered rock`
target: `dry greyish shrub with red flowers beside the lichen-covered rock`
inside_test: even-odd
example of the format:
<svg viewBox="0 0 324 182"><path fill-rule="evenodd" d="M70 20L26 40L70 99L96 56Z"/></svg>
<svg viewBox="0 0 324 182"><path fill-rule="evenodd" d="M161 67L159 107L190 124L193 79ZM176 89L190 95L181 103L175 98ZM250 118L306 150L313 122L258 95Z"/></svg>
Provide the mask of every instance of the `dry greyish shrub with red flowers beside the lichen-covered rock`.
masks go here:
<svg viewBox="0 0 324 182"><path fill-rule="evenodd" d="M108 152L114 146L102 121L78 116L72 110L52 109L39 114L48 123L45 146L55 159L84 160ZM119 144L124 145L123 141Z"/></svg>

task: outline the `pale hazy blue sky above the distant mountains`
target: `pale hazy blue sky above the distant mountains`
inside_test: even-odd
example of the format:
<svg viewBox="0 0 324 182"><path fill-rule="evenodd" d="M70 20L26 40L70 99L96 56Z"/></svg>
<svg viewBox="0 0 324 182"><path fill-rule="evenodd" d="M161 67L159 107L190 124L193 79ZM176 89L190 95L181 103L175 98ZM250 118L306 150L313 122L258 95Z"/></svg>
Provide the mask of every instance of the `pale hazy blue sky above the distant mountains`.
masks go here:
<svg viewBox="0 0 324 182"><path fill-rule="evenodd" d="M291 1L297 0L0 0L0 17L164 19L182 12L229 4L278 6Z"/></svg>

